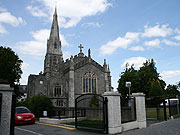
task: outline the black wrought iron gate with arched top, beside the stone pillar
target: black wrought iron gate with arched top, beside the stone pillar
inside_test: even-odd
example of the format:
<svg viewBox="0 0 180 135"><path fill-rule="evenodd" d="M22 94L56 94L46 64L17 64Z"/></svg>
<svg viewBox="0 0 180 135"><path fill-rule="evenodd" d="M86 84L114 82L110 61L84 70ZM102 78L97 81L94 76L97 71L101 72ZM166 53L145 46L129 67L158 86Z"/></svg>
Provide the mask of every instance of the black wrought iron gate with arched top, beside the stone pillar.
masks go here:
<svg viewBox="0 0 180 135"><path fill-rule="evenodd" d="M107 98L82 94L75 99L75 127L108 133Z"/></svg>

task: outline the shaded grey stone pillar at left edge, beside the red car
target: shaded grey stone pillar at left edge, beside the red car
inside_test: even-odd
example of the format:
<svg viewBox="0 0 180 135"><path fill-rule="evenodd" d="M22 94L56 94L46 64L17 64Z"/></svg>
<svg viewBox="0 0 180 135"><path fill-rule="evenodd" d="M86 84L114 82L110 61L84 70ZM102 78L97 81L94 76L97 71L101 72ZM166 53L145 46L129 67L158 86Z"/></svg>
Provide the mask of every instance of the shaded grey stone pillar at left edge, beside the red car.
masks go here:
<svg viewBox="0 0 180 135"><path fill-rule="evenodd" d="M0 135L12 135L11 131L11 109L12 109L12 94L14 88L10 88L8 84L0 84L0 93L2 95L1 116L0 116ZM14 121L13 121L14 122Z"/></svg>

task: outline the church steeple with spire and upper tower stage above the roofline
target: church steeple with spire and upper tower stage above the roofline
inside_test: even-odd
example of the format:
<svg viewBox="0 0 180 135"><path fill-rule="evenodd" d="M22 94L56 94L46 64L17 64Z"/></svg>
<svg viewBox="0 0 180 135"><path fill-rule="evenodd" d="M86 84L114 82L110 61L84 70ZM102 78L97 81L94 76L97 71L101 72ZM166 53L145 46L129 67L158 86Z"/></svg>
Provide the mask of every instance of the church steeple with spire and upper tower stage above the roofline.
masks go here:
<svg viewBox="0 0 180 135"><path fill-rule="evenodd" d="M47 40L47 52L44 60L44 73L48 78L49 73L60 72L60 65L63 63L63 54L61 50L61 41L59 37L59 26L57 19L57 10L55 8L50 37Z"/></svg>

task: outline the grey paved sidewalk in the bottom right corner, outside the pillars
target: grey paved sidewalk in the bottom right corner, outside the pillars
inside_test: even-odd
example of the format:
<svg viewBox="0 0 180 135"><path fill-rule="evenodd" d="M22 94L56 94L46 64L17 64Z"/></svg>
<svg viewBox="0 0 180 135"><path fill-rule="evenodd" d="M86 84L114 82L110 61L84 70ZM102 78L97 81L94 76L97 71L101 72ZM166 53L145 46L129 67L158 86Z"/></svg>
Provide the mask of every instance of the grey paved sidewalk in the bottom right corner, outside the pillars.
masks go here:
<svg viewBox="0 0 180 135"><path fill-rule="evenodd" d="M180 118L155 123L147 128L131 130L119 135L180 135Z"/></svg>

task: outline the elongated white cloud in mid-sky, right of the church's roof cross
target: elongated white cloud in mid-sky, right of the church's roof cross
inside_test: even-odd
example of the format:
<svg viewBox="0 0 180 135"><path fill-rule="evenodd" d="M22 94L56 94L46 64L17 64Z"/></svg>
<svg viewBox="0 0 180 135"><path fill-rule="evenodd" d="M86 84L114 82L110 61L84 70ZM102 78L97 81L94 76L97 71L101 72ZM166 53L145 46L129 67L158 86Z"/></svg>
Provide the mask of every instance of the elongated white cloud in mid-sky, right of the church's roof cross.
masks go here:
<svg viewBox="0 0 180 135"><path fill-rule="evenodd" d="M118 37L114 41L109 41L107 44L104 44L100 48L100 55L110 55L112 54L116 49L120 48L127 48L129 44L132 43L133 40L121 38Z"/></svg>

